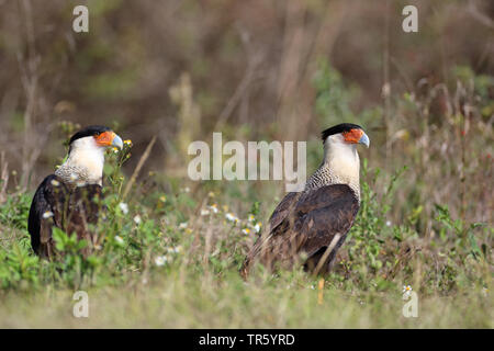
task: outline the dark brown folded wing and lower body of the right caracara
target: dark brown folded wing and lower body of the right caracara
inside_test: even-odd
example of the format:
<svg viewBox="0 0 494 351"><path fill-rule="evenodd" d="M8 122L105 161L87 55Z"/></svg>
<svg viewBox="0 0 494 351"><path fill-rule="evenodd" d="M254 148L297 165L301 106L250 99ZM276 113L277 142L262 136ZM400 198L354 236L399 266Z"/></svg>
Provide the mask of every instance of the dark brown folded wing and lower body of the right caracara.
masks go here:
<svg viewBox="0 0 494 351"><path fill-rule="evenodd" d="M341 246L359 210L355 192L345 184L326 185L299 196L284 218L269 234L259 238L246 259L245 272L255 259L272 268L274 263L290 267L304 253L321 258L333 238L336 247L327 262Z"/></svg>

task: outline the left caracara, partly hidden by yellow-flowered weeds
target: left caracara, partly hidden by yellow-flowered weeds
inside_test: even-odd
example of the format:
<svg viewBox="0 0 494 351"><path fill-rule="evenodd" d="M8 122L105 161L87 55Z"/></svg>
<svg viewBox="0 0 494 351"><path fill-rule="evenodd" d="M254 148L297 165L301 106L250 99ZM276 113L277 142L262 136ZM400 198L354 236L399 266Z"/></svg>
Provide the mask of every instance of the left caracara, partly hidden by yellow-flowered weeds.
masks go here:
<svg viewBox="0 0 494 351"><path fill-rule="evenodd" d="M98 223L97 199L101 196L104 151L109 146L123 147L120 136L109 127L93 125L77 132L70 138L66 161L37 188L27 229L38 256L54 258L54 226L92 244L90 225Z"/></svg>

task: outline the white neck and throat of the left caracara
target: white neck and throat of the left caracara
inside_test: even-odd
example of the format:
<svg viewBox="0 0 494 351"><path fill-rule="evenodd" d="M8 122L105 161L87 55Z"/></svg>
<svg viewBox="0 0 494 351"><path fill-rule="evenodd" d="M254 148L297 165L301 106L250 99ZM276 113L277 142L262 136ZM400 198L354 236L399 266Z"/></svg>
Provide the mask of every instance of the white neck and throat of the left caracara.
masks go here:
<svg viewBox="0 0 494 351"><path fill-rule="evenodd" d="M64 181L76 184L102 185L104 147L98 146L92 136L79 138L70 145L64 165L55 172Z"/></svg>

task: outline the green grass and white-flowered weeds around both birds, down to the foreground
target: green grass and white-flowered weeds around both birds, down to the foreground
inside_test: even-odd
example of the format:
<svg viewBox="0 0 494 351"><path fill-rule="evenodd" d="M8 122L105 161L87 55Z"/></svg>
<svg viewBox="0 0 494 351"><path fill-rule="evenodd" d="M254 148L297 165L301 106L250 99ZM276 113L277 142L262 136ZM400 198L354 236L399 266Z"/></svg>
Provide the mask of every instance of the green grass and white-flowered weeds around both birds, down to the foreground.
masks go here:
<svg viewBox="0 0 494 351"><path fill-rule="evenodd" d="M121 205L119 160L109 158L109 219L99 228L105 241L88 260L63 233L57 234L63 261L33 254L25 230L31 194L11 196L1 207L0 327L493 327L492 265L490 248L483 246L492 229L453 220L444 207L436 219L444 233L435 239L420 238L409 220L386 223L393 188L404 170L378 201L371 189L379 172L369 174L364 162L363 178L370 183L362 184L359 219L340 264L319 288L319 279L296 269L269 274L259 268L247 282L240 279L254 226L271 210L256 202L246 207L243 201L225 207L229 193L242 192L236 189L240 183L228 184L218 195L207 191L211 184L194 194L170 184L169 191L159 191L156 180L147 190L133 189L127 210ZM228 220L232 216L239 220ZM417 318L402 315L402 288L408 284L418 293ZM89 294L89 318L72 316L78 290Z"/></svg>

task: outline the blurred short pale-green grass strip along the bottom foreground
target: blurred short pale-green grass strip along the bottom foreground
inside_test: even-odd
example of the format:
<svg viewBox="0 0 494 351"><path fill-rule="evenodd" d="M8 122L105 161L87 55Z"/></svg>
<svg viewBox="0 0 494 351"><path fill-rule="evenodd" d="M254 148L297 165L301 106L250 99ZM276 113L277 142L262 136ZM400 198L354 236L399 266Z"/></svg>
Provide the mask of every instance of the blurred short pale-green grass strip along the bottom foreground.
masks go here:
<svg viewBox="0 0 494 351"><path fill-rule="evenodd" d="M180 274L179 274L180 273ZM156 274L157 275L157 274ZM296 281L296 284L294 284ZM290 286L292 285L292 286ZM71 315L72 291L3 296L2 328L492 328L492 304L479 292L419 299L417 318L402 315L398 292L326 287L323 304L305 278L245 284L234 272L183 276L179 270L120 288L88 291L89 318Z"/></svg>

